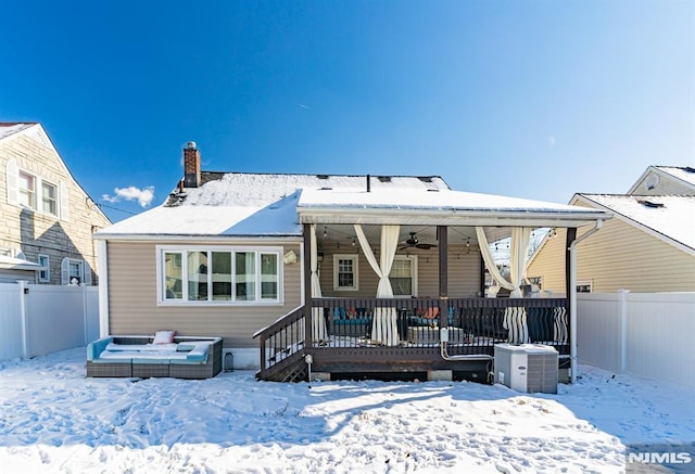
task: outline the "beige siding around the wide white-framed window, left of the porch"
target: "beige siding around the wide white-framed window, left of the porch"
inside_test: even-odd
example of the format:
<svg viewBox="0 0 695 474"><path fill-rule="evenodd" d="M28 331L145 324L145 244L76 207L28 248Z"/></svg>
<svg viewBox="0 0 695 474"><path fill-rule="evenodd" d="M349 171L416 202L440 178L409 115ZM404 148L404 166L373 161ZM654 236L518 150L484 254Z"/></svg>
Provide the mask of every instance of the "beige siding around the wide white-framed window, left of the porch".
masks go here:
<svg viewBox="0 0 695 474"><path fill-rule="evenodd" d="M301 259L283 265L283 305L157 306L156 245L173 242L109 242L109 331L111 334L154 334L176 330L181 335L222 336L225 347L257 347L253 334L301 302ZM207 246L190 242L190 245ZM283 252L300 255L299 244Z"/></svg>

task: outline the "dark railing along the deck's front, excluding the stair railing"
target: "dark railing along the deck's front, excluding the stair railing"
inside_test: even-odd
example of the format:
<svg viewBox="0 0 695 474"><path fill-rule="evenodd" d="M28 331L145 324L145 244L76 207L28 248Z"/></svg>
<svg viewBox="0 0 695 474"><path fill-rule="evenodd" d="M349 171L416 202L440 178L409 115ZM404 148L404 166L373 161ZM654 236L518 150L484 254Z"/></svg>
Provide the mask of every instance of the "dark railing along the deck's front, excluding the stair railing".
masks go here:
<svg viewBox="0 0 695 474"><path fill-rule="evenodd" d="M450 328L451 354L492 354L498 343L553 345L569 350L569 321L565 298L318 298L328 342L313 347L372 345L375 308L395 308L401 346L430 347L440 343L440 328Z"/></svg>

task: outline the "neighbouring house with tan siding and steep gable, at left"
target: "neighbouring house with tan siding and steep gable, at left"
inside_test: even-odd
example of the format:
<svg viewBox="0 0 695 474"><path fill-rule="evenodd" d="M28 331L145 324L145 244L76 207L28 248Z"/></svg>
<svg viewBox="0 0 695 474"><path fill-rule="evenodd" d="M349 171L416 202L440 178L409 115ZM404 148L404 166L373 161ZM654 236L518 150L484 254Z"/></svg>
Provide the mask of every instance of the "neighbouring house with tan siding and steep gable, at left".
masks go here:
<svg viewBox="0 0 695 474"><path fill-rule="evenodd" d="M0 281L96 284L91 234L111 221L37 123L0 123Z"/></svg>

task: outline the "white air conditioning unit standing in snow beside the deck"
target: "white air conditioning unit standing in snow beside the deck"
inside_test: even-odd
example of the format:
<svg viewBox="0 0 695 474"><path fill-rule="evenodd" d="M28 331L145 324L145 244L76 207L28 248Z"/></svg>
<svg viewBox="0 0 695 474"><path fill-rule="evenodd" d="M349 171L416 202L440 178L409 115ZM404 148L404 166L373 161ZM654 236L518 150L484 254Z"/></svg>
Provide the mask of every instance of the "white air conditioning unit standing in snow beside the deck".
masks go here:
<svg viewBox="0 0 695 474"><path fill-rule="evenodd" d="M495 382L526 394L557 394L557 350L541 344L496 344Z"/></svg>

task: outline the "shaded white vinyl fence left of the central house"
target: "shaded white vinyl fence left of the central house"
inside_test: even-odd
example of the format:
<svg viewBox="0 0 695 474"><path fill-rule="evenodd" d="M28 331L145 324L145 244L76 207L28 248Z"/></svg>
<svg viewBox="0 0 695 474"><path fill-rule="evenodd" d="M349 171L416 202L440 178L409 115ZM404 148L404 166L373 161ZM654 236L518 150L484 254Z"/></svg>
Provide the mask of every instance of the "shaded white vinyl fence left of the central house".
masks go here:
<svg viewBox="0 0 695 474"><path fill-rule="evenodd" d="M0 361L99 338L99 289L0 283Z"/></svg>

